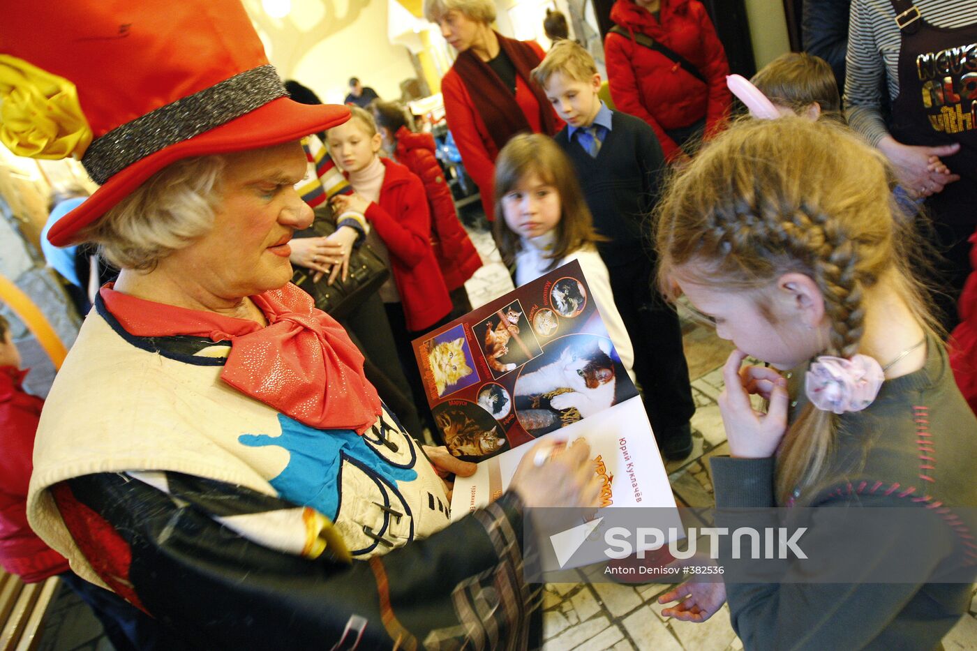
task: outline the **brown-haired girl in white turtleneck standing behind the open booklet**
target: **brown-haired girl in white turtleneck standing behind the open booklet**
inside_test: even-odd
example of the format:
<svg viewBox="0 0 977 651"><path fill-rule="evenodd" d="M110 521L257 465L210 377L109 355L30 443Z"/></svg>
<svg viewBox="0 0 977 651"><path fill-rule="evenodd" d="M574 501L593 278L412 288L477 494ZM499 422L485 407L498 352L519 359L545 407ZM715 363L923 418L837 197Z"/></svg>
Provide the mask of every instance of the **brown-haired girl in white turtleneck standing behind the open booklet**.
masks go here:
<svg viewBox="0 0 977 651"><path fill-rule="evenodd" d="M634 349L617 312L611 277L594 243L590 210L573 163L549 136L514 137L495 161L492 234L516 286L576 260L604 318L621 363L634 379Z"/></svg>

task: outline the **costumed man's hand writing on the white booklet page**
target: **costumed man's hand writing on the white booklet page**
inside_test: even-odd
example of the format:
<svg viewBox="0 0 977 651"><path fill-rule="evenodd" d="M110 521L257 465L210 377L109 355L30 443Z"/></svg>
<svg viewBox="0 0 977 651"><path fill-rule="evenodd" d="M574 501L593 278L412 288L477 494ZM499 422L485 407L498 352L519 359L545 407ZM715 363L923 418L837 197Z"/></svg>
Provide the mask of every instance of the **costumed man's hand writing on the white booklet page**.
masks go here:
<svg viewBox="0 0 977 651"><path fill-rule="evenodd" d="M519 462L509 489L519 494L527 508L595 507L601 482L586 441L577 439L570 446L540 441Z"/></svg>

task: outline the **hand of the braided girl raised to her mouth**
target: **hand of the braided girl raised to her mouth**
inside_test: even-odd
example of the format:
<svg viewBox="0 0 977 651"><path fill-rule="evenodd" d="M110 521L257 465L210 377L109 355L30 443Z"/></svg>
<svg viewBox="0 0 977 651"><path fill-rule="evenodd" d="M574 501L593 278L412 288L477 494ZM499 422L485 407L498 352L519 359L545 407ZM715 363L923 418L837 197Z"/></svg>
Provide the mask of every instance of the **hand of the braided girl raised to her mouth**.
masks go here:
<svg viewBox="0 0 977 651"><path fill-rule="evenodd" d="M787 429L787 382L775 369L747 367L740 371L746 353L734 350L725 366L726 387L719 394L719 412L730 444L730 454L743 458L774 456ZM750 394L770 401L767 412L757 412Z"/></svg>

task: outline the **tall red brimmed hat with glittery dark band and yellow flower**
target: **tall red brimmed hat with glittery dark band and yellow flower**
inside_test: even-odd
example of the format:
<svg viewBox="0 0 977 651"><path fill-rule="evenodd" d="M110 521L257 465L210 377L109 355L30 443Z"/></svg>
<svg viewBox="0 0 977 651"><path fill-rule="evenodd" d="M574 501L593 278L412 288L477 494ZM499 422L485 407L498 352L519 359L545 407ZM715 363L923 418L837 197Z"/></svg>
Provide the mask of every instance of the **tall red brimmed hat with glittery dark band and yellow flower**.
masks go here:
<svg viewBox="0 0 977 651"><path fill-rule="evenodd" d="M59 246L177 160L298 141L349 115L288 99L240 0L34 0L0 21L0 141L74 154L101 185L51 228Z"/></svg>

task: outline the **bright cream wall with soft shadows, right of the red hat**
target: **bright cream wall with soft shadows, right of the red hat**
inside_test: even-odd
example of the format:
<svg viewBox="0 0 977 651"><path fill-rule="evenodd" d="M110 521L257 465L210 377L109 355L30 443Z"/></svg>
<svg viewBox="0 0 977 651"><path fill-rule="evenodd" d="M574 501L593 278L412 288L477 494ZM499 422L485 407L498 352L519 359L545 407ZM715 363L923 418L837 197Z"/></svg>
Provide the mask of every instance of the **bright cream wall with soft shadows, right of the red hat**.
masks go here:
<svg viewBox="0 0 977 651"><path fill-rule="evenodd" d="M352 76L384 99L399 99L401 81L417 76L407 49L387 37L387 0L292 0L280 20L260 0L244 4L279 73L323 102L341 103Z"/></svg>

